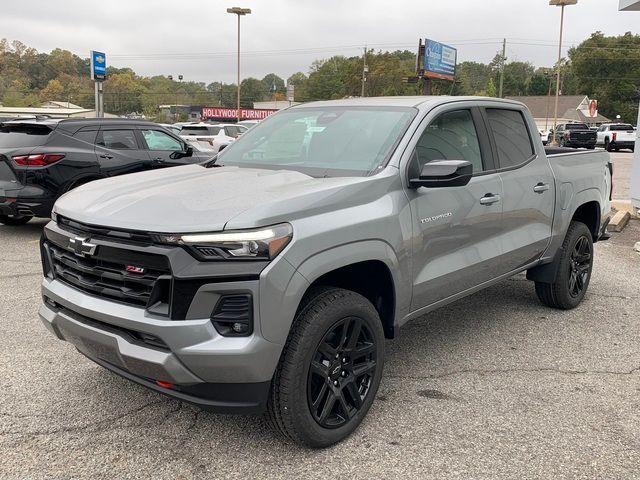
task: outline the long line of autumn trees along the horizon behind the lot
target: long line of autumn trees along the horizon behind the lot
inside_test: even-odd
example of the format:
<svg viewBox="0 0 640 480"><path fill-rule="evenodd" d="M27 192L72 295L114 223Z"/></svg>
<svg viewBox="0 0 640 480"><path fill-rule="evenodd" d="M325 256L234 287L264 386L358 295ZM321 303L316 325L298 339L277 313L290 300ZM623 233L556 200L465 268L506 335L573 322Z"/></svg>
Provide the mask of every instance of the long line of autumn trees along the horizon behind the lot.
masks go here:
<svg viewBox="0 0 640 480"><path fill-rule="evenodd" d="M415 75L415 52L368 50L366 63L366 96L422 92L421 82L403 81ZM460 63L455 82L434 80L432 93L496 97L503 63L504 96L547 95L550 83L551 94L555 94L556 66L536 69L530 63L503 58L502 52L488 64ZM561 72L562 95L588 95L599 100L602 114L635 120L640 99L640 35L607 37L596 32L570 50L569 57L561 62ZM262 80L245 78L241 83L241 105L251 107L254 102L283 99L287 84L295 86L296 101L360 96L362 73L362 55L336 55L314 61L308 72L296 72L286 82L275 73ZM235 107L237 94L233 83L142 77L130 68L113 67L109 67L104 89L106 111L121 115L142 112L151 118L158 115L160 105ZM0 40L0 102L5 106L37 106L47 100L93 108L89 60L67 50L39 53L21 42Z"/></svg>

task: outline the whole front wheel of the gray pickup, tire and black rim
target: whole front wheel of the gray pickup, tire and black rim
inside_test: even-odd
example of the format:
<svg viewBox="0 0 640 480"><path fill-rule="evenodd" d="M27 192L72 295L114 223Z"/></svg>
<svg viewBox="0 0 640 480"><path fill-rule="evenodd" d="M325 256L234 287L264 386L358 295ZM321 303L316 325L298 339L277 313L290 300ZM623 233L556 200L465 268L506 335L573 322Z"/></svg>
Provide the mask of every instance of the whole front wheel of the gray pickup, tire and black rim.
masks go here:
<svg viewBox="0 0 640 480"><path fill-rule="evenodd" d="M375 399L384 364L378 312L362 295L315 289L302 302L271 386L267 421L323 448L349 436Z"/></svg>

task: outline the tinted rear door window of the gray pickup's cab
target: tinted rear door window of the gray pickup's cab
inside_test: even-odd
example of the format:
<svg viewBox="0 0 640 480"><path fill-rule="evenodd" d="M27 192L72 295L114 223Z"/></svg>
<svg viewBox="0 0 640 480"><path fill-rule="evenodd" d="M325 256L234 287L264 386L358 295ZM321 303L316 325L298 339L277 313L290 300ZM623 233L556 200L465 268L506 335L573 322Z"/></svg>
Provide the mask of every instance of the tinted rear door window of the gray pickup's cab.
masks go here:
<svg viewBox="0 0 640 480"><path fill-rule="evenodd" d="M522 112L501 108L487 108L486 112L500 168L515 167L528 161L534 150Z"/></svg>

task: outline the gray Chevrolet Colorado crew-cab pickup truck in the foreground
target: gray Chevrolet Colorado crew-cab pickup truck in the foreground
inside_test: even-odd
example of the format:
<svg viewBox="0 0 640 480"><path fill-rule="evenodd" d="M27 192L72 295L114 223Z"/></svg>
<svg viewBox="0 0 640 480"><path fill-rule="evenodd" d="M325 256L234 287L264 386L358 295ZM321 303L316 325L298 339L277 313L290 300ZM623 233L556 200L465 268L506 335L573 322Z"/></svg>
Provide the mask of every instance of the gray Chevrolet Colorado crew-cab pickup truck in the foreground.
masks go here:
<svg viewBox="0 0 640 480"><path fill-rule="evenodd" d="M545 153L520 103L396 97L289 108L216 159L62 196L40 317L150 389L345 438L385 338L520 272L576 307L606 239L606 152Z"/></svg>

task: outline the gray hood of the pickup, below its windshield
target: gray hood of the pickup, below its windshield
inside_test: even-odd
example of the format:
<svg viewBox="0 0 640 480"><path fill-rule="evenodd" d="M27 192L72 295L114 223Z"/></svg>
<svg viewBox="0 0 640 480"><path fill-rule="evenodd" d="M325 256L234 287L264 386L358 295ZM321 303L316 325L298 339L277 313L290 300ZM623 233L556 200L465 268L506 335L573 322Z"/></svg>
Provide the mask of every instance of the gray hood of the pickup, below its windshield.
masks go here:
<svg viewBox="0 0 640 480"><path fill-rule="evenodd" d="M243 220L227 228L250 228L287 221L302 205L326 204L368 178L187 165L90 182L60 197L54 211L83 223L149 232L220 231L235 217Z"/></svg>

